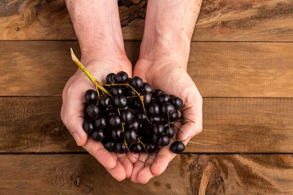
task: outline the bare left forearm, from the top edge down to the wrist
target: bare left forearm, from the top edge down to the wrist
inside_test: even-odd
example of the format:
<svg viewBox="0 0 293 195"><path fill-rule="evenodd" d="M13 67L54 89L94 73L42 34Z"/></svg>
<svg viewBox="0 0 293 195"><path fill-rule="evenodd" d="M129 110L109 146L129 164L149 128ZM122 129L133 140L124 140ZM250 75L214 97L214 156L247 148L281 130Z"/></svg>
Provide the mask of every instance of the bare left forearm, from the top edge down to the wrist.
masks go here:
<svg viewBox="0 0 293 195"><path fill-rule="evenodd" d="M117 0L65 0L82 52L90 61L115 53L124 57Z"/></svg>

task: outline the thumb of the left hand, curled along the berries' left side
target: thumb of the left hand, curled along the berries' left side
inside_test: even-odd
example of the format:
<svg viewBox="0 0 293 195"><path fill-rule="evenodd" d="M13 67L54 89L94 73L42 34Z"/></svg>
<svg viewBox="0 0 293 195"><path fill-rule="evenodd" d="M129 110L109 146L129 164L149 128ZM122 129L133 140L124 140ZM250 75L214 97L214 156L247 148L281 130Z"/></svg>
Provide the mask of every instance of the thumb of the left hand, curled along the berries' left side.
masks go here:
<svg viewBox="0 0 293 195"><path fill-rule="evenodd" d="M70 94L70 95L69 95ZM84 132L84 92L77 92L72 87L64 88L61 118L74 137L77 145L83 146L87 140Z"/></svg>

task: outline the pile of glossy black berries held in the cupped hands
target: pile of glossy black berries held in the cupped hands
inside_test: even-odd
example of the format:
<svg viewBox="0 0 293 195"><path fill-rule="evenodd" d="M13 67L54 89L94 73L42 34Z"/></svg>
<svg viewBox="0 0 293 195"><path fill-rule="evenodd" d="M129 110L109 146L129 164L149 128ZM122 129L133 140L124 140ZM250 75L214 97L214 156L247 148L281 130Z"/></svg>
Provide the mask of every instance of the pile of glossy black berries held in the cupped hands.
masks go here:
<svg viewBox="0 0 293 195"><path fill-rule="evenodd" d="M85 92L84 131L100 141L109 152L148 154L169 144L174 124L183 105L181 98L153 90L142 78L128 78L126 72L106 76L104 90ZM170 150L181 153L182 141Z"/></svg>

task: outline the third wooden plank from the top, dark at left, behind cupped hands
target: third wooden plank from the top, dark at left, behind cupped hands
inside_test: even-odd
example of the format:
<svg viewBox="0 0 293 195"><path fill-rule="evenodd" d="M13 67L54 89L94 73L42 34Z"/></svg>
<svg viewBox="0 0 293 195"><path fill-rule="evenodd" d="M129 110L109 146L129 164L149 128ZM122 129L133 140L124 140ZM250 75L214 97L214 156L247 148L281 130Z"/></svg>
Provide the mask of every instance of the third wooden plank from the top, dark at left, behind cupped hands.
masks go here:
<svg viewBox="0 0 293 195"><path fill-rule="evenodd" d="M60 118L62 98L0 98L0 153L81 152ZM185 152L293 153L293 98L204 98L203 131Z"/></svg>

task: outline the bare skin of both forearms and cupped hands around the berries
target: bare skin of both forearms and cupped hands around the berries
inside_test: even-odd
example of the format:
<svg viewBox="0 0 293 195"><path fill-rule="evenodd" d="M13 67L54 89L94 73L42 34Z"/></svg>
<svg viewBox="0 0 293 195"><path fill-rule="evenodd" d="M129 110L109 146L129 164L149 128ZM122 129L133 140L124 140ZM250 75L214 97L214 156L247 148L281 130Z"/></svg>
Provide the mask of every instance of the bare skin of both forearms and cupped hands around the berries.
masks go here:
<svg viewBox="0 0 293 195"><path fill-rule="evenodd" d="M201 132L202 97L187 73L190 40L201 0L148 0L144 38L133 72L124 50L117 0L65 1L79 39L81 62L95 78L105 82L108 73L121 70L129 77L143 78L154 89L182 98L183 117L195 121L176 122L183 132L178 131L176 139L189 140ZM102 143L87 137L82 125L84 93L88 89L95 89L94 85L78 70L63 90L61 117L77 144L119 181L127 177L133 182L146 183L162 174L176 156L169 149L172 141L159 153L152 154L157 163L147 154L133 154L148 165L129 154L109 153Z"/></svg>

